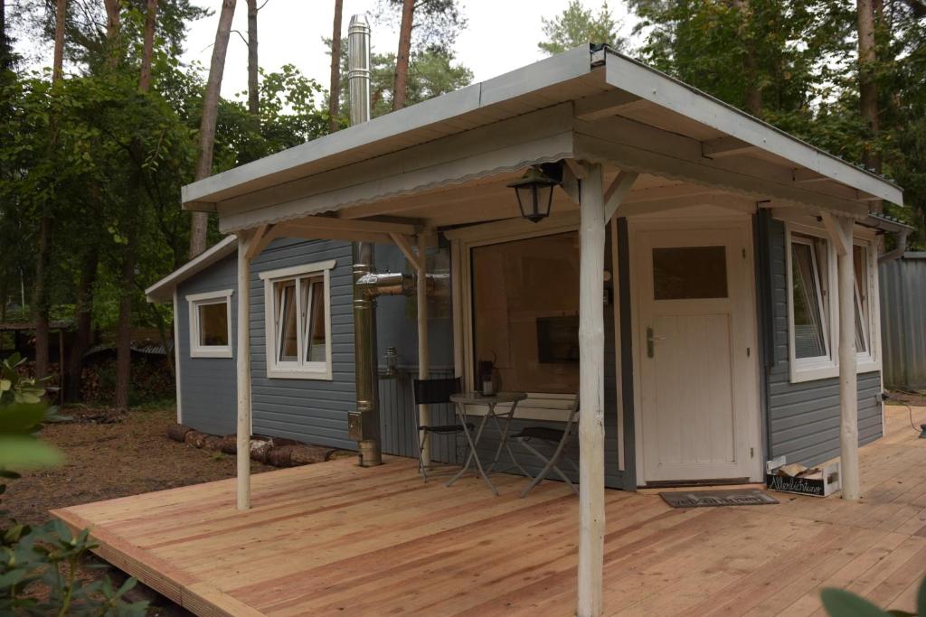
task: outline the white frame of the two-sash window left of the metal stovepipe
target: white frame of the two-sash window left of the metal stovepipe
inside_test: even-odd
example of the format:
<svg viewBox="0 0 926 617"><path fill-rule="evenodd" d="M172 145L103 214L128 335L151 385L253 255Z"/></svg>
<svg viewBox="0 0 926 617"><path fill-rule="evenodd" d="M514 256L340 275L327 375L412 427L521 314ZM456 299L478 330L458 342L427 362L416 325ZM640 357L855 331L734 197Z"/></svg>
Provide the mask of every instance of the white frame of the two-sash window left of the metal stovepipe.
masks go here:
<svg viewBox="0 0 926 617"><path fill-rule="evenodd" d="M266 354L267 354L267 376L277 379L324 379L332 380L332 294L331 294L331 272L336 265L335 260L317 262L314 264L295 265L293 267L270 270L261 272L260 278L264 281L264 327L266 334ZM322 277L325 302L325 361L324 362L305 362L303 355L306 353L305 345L302 340L303 318L299 315L296 319L296 339L299 341L297 360L294 362L284 362L279 360L280 341L276 332L276 301L274 298L274 286L277 283L287 280L298 281L299 278ZM300 296L302 286L298 283L295 285L294 306L296 310L301 310L302 302Z"/></svg>

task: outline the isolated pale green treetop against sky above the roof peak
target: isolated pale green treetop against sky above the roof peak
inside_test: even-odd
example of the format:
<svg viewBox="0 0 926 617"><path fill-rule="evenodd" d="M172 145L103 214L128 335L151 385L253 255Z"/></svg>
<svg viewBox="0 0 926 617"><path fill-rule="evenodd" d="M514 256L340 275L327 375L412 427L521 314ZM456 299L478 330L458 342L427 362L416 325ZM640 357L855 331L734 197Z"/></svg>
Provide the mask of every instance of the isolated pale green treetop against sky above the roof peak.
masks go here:
<svg viewBox="0 0 926 617"><path fill-rule="evenodd" d="M569 5L553 19L542 19L545 41L537 43L540 50L549 56L563 52L584 43L607 43L621 50L627 41L618 34L620 22L611 15L607 2L595 14L584 8L579 0L569 0Z"/></svg>

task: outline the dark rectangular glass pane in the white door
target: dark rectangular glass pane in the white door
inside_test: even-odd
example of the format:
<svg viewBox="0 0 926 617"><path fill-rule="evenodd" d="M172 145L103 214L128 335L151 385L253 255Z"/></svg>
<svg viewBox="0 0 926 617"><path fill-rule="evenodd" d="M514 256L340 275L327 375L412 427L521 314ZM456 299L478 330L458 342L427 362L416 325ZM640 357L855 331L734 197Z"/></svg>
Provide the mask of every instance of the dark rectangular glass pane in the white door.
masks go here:
<svg viewBox="0 0 926 617"><path fill-rule="evenodd" d="M726 298L726 247L653 249L653 297L655 300Z"/></svg>

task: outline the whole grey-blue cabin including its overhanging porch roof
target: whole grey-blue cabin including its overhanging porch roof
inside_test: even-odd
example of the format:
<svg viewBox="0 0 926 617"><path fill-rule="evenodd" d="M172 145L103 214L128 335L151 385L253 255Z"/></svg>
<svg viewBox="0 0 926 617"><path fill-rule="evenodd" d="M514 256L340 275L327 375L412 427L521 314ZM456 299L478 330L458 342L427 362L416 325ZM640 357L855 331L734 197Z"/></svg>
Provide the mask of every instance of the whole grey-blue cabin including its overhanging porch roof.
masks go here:
<svg viewBox="0 0 926 617"><path fill-rule="evenodd" d="M521 174L544 179L543 204L512 191ZM782 456L843 454L857 475L845 453L883 434L878 239L908 230L874 200L902 192L580 47L185 187L185 208L235 235L148 295L175 302L178 415L206 432L354 449L359 416L383 452L415 456L427 336L431 376L476 389L491 362L528 394L514 430L561 423L584 389L586 463L598 482L600 457L607 487L760 482ZM368 324L370 281L388 290ZM250 363L236 365L241 336ZM243 385L250 402L235 401Z"/></svg>

